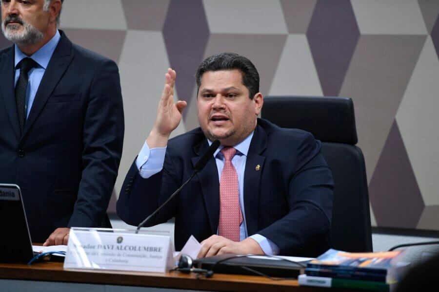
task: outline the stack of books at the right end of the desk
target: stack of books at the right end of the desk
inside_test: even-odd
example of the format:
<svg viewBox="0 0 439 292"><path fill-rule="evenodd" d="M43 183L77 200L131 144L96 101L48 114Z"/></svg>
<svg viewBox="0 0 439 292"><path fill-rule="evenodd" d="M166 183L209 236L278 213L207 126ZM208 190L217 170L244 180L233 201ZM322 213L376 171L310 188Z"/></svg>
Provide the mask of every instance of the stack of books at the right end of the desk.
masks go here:
<svg viewBox="0 0 439 292"><path fill-rule="evenodd" d="M307 263L299 285L393 291L409 264L402 250L347 253L334 249Z"/></svg>

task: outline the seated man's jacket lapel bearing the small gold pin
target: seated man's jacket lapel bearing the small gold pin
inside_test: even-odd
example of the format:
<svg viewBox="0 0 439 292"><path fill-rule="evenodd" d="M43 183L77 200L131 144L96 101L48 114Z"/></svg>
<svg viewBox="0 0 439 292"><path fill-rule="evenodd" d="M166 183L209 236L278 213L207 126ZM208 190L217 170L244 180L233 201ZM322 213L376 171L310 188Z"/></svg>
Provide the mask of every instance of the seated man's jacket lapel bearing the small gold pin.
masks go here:
<svg viewBox="0 0 439 292"><path fill-rule="evenodd" d="M260 154L267 148L267 134L258 125L253 134L244 172L244 208L249 236L258 231L260 178L264 171L265 157ZM259 165L259 167L258 167Z"/></svg>

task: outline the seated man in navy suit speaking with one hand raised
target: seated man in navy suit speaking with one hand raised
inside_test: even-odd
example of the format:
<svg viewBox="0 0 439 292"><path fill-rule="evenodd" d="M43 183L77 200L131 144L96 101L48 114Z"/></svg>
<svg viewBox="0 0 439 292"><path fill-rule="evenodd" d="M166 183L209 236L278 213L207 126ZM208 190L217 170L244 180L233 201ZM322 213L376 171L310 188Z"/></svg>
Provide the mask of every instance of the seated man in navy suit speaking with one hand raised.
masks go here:
<svg viewBox="0 0 439 292"><path fill-rule="evenodd" d="M329 248L333 180L320 142L305 131L258 119L259 73L247 58L222 53L198 68L200 128L169 139L185 101L174 104L168 69L157 118L125 178L117 211L138 225L194 172L206 166L146 226L175 217L175 247L194 235L199 256L225 253L318 256Z"/></svg>

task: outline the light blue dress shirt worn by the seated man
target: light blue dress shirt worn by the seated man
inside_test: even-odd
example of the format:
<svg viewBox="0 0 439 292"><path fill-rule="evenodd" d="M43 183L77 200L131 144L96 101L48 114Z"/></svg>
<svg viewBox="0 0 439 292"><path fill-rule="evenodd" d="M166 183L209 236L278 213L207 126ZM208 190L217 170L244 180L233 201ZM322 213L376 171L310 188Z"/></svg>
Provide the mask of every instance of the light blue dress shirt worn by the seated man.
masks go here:
<svg viewBox="0 0 439 292"><path fill-rule="evenodd" d="M236 172L238 174L239 204L241 207L243 218L243 221L239 226L239 240L241 241L248 237L244 208L244 170L245 162L247 160L247 153L250 147L250 142L252 141L253 133L254 132L252 132L239 144L233 146L235 149L237 149L235 156L232 158L232 164L233 166L235 166ZM212 141L208 140L208 142L210 146L212 144ZM224 156L220 152L222 148L223 146L218 147L218 149L214 153L215 162L217 163L218 168L219 180L221 180L222 168L224 167ZM139 156L136 159L136 165L139 169L140 176L144 179L147 179L154 174L160 172L163 168L165 153L166 147L150 149L145 142L142 149L140 150ZM261 236L260 234L254 234L250 237L259 243L260 248L266 255L279 254L279 247L267 237Z"/></svg>

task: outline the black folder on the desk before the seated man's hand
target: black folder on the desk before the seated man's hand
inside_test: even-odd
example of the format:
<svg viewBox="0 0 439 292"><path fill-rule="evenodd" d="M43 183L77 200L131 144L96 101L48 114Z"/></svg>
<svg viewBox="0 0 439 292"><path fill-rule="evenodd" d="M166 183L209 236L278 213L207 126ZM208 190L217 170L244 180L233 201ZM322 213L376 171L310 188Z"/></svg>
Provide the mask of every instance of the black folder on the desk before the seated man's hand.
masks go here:
<svg viewBox="0 0 439 292"><path fill-rule="evenodd" d="M236 256L225 254L210 256L194 260L194 267L212 270L214 273L223 274L246 274L256 273L246 268L258 271L272 277L297 278L305 272L306 261L293 262L286 259L269 258L262 256Z"/></svg>

